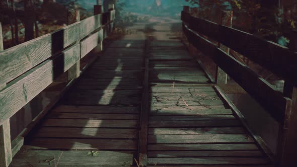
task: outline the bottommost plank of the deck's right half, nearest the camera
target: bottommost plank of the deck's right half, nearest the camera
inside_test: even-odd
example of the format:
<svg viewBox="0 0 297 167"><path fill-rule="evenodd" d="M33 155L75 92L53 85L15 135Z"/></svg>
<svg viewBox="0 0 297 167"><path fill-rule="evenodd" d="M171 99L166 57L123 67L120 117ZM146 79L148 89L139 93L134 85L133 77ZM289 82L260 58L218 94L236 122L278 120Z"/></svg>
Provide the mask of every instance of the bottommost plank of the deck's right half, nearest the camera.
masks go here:
<svg viewBox="0 0 297 167"><path fill-rule="evenodd" d="M148 158L149 164L269 164L259 157Z"/></svg>

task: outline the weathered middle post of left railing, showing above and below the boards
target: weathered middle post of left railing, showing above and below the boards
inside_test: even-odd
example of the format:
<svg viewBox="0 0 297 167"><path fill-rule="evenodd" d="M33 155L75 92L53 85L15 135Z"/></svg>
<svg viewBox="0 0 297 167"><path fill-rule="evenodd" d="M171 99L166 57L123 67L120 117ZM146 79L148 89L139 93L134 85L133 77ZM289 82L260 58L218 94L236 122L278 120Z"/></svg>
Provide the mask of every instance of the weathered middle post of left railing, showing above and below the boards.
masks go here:
<svg viewBox="0 0 297 167"><path fill-rule="evenodd" d="M80 21L80 11L70 10L67 16L67 24L70 25L79 21ZM72 67L68 69L68 78L67 78L68 81L72 79L76 79L80 76L80 73L81 73L80 63L81 61L79 60L76 64L74 64Z"/></svg>

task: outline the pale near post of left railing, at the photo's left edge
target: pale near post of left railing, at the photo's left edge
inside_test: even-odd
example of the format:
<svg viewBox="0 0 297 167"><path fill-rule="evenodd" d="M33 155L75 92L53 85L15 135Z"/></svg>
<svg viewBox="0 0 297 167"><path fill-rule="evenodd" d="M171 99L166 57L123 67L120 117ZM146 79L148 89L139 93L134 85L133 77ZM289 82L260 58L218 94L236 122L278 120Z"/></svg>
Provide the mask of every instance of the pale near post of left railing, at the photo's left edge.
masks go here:
<svg viewBox="0 0 297 167"><path fill-rule="evenodd" d="M0 51L3 50L2 26L0 22ZM9 121L10 119L7 119L2 125L0 125L0 166L3 167L9 166L13 159Z"/></svg>

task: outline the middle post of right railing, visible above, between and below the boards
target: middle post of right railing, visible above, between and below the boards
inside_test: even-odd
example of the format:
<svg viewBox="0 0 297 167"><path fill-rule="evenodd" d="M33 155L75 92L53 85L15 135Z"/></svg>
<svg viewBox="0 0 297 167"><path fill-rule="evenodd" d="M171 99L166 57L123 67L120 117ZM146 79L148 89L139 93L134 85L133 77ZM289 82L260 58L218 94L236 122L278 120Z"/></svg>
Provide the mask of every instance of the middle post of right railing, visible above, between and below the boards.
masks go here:
<svg viewBox="0 0 297 167"><path fill-rule="evenodd" d="M222 26L232 27L232 20L233 20L233 11L222 11L218 24ZM219 44L219 48L228 54L230 52L230 49L225 45L222 45L221 43ZM227 78L228 78L227 73L217 66L216 84L222 84L222 85L227 84Z"/></svg>

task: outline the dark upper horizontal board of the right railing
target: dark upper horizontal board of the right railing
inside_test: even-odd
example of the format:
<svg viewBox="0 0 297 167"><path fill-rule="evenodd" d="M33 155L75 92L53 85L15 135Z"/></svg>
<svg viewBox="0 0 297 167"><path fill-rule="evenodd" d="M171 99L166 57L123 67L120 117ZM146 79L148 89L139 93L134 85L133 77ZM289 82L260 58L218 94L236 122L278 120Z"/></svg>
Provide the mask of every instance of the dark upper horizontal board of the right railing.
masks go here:
<svg viewBox="0 0 297 167"><path fill-rule="evenodd" d="M232 48L297 86L297 53L253 34L191 17L185 12L182 12L182 20L191 30Z"/></svg>

